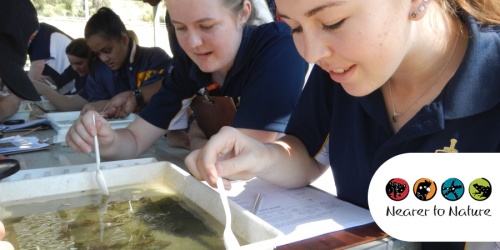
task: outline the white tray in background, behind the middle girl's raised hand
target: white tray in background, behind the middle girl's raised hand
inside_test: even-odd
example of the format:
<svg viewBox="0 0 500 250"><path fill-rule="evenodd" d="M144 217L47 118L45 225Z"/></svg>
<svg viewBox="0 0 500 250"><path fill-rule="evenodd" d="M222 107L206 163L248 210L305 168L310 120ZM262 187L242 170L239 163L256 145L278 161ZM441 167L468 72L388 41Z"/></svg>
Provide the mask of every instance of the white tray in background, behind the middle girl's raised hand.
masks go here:
<svg viewBox="0 0 500 250"><path fill-rule="evenodd" d="M54 136L52 142L64 142L66 133L79 116L80 111L46 113L45 118L49 120L50 126L52 126L52 128L57 132L57 135ZM122 119L109 119L108 123L113 129L125 128L135 119L135 117L135 114L130 114L126 118Z"/></svg>

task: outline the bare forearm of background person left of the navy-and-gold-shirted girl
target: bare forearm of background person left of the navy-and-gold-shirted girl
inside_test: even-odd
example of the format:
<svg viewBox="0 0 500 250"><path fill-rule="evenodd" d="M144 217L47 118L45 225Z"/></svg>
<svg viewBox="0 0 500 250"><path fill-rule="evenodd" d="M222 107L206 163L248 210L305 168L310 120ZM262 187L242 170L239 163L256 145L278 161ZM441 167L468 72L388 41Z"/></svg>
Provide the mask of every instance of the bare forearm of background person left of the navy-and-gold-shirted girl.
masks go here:
<svg viewBox="0 0 500 250"><path fill-rule="evenodd" d="M58 111L80 111L87 100L80 95L63 95L56 90L52 89L48 84L40 81L32 81L36 91L43 95L45 99L49 100Z"/></svg>

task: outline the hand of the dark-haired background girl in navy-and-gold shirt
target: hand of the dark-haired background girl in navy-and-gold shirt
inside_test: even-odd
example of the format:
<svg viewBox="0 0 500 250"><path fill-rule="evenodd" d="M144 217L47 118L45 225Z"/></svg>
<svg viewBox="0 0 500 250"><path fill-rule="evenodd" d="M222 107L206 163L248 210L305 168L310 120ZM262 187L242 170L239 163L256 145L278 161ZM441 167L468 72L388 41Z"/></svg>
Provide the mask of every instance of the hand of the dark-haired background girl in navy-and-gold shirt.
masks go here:
<svg viewBox="0 0 500 250"><path fill-rule="evenodd" d="M125 118L134 112L136 106L134 93L125 91L111 98L101 114L110 118Z"/></svg>

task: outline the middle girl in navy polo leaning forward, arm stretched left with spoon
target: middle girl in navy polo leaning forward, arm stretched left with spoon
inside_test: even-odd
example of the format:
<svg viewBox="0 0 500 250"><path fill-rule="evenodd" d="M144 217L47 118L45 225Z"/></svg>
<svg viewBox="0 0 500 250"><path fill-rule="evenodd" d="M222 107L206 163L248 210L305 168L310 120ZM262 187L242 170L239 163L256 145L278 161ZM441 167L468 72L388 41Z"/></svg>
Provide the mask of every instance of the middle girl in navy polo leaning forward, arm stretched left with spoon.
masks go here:
<svg viewBox="0 0 500 250"><path fill-rule="evenodd" d="M230 96L239 106L234 127L260 141L275 140L295 107L307 70L290 29L284 23L245 25L251 13L246 0L169 0L167 9L184 52L174 57L175 68L162 89L126 129L113 131L101 117L96 127L85 114L70 128L68 146L88 153L97 134L106 159L136 157L167 128L185 129L186 121L176 124L175 118L185 117L183 108L213 83L219 88L211 96Z"/></svg>

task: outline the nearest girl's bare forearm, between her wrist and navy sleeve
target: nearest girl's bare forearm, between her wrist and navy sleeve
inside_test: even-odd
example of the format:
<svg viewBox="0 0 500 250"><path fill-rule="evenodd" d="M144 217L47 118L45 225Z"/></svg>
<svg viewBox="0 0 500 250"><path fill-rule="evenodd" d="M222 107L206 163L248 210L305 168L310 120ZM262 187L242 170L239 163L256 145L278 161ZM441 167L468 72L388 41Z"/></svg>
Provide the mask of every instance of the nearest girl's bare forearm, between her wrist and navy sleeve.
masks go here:
<svg viewBox="0 0 500 250"><path fill-rule="evenodd" d="M321 176L327 166L309 156L304 144L294 136L267 143L262 152L266 166L257 177L286 188L303 187Z"/></svg>

